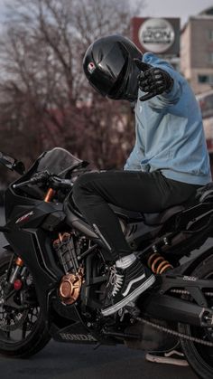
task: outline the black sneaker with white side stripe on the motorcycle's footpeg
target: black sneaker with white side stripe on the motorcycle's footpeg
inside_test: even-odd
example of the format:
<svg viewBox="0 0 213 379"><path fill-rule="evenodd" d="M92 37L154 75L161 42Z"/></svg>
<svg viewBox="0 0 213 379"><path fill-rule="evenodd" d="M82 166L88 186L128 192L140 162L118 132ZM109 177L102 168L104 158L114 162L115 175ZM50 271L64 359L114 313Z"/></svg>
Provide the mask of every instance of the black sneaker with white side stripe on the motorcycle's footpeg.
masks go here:
<svg viewBox="0 0 213 379"><path fill-rule="evenodd" d="M102 315L109 316L124 308L152 286L154 281L154 275L146 270L138 259L125 270L116 268L116 265L112 266L106 285L106 304L102 308Z"/></svg>

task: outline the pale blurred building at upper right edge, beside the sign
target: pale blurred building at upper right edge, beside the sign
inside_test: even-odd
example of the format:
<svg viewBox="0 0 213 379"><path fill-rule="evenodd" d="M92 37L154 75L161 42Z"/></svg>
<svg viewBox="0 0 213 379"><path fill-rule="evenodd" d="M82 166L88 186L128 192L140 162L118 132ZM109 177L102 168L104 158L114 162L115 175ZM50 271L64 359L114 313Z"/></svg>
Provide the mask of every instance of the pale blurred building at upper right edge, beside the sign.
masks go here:
<svg viewBox="0 0 213 379"><path fill-rule="evenodd" d="M195 93L213 88L213 7L191 16L181 31L181 73Z"/></svg>

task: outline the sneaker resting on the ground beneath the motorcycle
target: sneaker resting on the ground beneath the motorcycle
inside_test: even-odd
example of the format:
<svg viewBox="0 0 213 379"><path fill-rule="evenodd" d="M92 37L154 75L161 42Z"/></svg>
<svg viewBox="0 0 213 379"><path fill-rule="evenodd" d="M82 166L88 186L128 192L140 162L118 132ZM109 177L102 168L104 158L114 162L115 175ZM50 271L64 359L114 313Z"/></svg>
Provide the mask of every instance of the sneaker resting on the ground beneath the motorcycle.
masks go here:
<svg viewBox="0 0 213 379"><path fill-rule="evenodd" d="M149 352L145 355L145 360L157 364L167 365L189 365L181 351L181 346L178 343L170 350Z"/></svg>

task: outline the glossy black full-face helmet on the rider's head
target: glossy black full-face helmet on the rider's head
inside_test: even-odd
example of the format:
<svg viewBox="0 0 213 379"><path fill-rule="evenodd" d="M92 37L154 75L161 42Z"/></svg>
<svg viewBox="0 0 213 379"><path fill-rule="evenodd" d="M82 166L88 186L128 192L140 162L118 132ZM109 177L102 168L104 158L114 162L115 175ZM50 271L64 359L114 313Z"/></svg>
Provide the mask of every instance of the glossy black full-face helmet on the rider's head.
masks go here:
<svg viewBox="0 0 213 379"><path fill-rule="evenodd" d="M83 68L89 83L101 95L133 101L137 98L139 73L134 58L142 58L134 43L121 35L110 35L88 47Z"/></svg>

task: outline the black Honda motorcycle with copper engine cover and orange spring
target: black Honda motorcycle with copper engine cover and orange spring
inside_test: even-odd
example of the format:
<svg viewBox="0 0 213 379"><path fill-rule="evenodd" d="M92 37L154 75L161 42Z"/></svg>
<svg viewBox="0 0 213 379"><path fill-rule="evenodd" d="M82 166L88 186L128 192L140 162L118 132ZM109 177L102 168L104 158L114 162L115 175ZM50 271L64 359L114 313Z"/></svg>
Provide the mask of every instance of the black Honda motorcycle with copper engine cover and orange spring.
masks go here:
<svg viewBox="0 0 213 379"><path fill-rule="evenodd" d="M0 228L8 242L0 255L0 353L34 355L51 337L158 349L170 336L181 340L196 374L212 379L213 184L162 213L110 204L156 284L103 317L110 257L71 196L88 163L59 147L26 172L3 153L0 163L21 175L5 192L6 223Z"/></svg>

